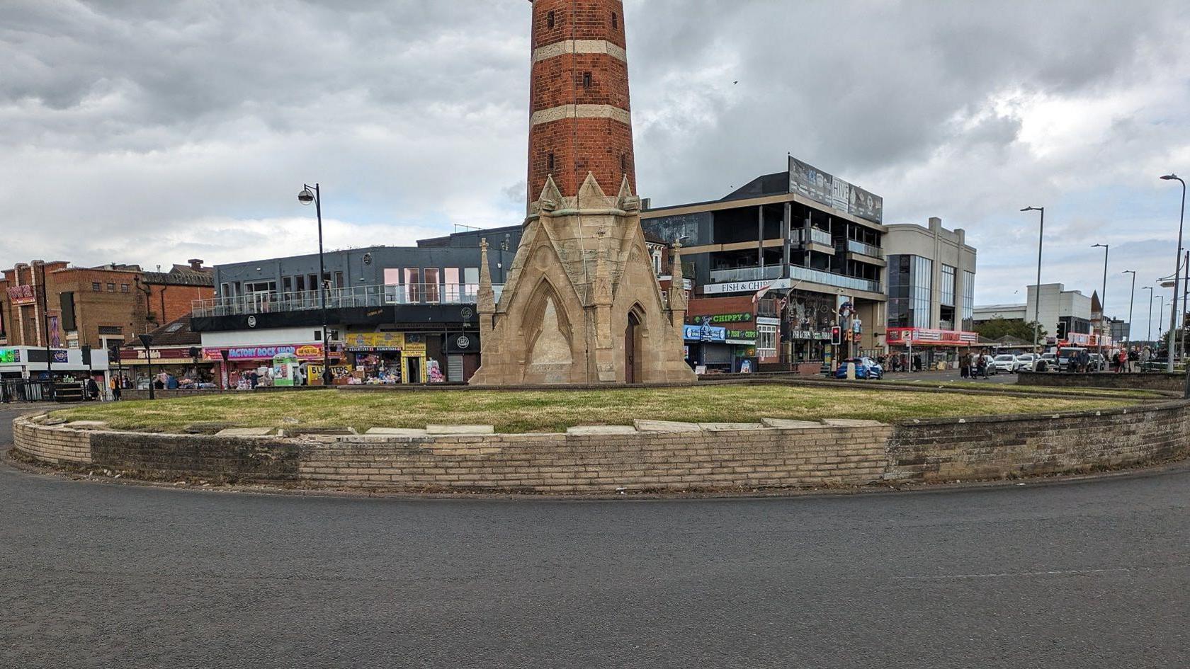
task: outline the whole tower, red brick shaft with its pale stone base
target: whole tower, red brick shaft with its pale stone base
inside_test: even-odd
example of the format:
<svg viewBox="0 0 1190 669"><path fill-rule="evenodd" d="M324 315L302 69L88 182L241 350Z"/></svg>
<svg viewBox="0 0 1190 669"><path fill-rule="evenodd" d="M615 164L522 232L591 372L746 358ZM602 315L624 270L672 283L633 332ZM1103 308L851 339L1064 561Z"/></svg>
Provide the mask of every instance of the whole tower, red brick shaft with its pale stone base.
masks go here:
<svg viewBox="0 0 1190 669"><path fill-rule="evenodd" d="M480 265L471 383L693 381L682 282L662 292L640 230L624 4L531 2L528 215L499 299Z"/></svg>

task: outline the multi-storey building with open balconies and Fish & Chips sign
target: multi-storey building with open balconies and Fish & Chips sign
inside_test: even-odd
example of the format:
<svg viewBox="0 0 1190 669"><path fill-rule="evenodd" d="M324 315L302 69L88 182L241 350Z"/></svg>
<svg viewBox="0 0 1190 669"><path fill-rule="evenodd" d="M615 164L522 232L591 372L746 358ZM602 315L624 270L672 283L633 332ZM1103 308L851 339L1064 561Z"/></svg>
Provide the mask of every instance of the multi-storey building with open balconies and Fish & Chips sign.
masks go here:
<svg viewBox="0 0 1190 669"><path fill-rule="evenodd" d="M709 314L699 302L757 298L749 300L754 327L734 327L740 337L729 364L738 370L744 361L822 361L840 320L852 351L883 350L888 229L882 213L879 196L789 158L787 171L760 176L720 200L647 208L641 225L683 245L683 274L695 283L689 313L697 314L688 319L739 319L744 311ZM724 364L722 357L712 364Z"/></svg>

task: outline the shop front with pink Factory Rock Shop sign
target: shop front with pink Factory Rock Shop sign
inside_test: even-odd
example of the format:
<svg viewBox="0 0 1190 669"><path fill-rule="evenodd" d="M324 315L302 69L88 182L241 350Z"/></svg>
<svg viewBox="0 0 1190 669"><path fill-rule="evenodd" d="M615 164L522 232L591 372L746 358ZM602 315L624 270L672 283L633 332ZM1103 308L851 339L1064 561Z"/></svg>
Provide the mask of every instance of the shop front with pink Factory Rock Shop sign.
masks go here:
<svg viewBox="0 0 1190 669"><path fill-rule="evenodd" d="M281 384L319 386L322 379L322 344L273 344L262 346L203 348L202 359L215 364L219 383L224 388L248 389L252 387L251 373L256 373L257 386L274 386L278 364L296 361L296 369L287 367ZM278 363L278 364L275 364ZM317 369L314 369L317 365ZM305 368L305 370L303 370ZM336 377L346 377L339 354L331 351L331 369ZM296 371L296 374L294 374Z"/></svg>

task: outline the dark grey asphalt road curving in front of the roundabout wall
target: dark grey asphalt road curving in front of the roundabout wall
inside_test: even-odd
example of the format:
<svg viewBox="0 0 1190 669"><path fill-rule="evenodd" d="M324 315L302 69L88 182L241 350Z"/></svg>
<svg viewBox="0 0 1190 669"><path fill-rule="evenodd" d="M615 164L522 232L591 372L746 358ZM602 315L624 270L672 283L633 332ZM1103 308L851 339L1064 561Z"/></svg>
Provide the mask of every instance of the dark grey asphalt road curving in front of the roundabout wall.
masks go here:
<svg viewBox="0 0 1190 669"><path fill-rule="evenodd" d="M1178 471L406 501L0 464L0 667L1185 667L1188 499Z"/></svg>

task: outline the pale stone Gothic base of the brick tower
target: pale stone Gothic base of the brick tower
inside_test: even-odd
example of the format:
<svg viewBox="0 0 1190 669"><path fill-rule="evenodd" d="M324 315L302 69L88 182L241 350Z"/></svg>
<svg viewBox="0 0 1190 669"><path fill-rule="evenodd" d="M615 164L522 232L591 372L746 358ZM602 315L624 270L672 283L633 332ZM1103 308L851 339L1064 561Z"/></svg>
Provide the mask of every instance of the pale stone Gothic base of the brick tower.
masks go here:
<svg viewBox="0 0 1190 669"><path fill-rule="evenodd" d="M676 252L675 265L681 276ZM482 365L470 382L694 381L677 283L665 294L657 282L640 200L626 180L609 198L588 175L577 198L563 198L551 179L531 207L499 304L490 276L481 275Z"/></svg>

